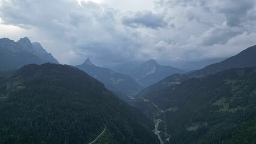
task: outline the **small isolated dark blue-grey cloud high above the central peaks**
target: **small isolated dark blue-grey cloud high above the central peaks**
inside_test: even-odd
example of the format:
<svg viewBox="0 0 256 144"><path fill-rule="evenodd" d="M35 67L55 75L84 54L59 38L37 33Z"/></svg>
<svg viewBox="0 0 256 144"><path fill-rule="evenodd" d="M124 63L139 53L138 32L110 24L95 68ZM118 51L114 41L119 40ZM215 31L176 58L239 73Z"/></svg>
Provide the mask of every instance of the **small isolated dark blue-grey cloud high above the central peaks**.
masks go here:
<svg viewBox="0 0 256 144"><path fill-rule="evenodd" d="M127 14L123 17L122 23L133 28L145 26L152 29L163 28L167 25L161 14L155 14L152 11L138 11Z"/></svg>

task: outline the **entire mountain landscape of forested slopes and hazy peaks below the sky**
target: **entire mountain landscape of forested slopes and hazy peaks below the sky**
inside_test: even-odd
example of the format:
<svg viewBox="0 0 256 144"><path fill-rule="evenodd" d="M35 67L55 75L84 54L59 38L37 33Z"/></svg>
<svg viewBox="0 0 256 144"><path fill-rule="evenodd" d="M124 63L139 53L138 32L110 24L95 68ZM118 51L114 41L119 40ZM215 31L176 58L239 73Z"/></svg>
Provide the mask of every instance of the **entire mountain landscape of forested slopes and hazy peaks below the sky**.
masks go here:
<svg viewBox="0 0 256 144"><path fill-rule="evenodd" d="M188 73L115 68L0 39L0 143L256 143L256 46Z"/></svg>

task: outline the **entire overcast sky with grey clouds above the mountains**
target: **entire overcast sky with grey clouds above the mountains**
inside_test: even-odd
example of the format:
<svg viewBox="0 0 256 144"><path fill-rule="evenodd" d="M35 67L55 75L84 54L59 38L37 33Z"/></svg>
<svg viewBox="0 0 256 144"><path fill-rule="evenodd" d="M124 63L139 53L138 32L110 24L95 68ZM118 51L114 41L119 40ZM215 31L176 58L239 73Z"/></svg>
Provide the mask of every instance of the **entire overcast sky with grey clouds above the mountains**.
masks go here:
<svg viewBox="0 0 256 144"><path fill-rule="evenodd" d="M255 0L0 0L0 37L62 64L199 61L256 44Z"/></svg>

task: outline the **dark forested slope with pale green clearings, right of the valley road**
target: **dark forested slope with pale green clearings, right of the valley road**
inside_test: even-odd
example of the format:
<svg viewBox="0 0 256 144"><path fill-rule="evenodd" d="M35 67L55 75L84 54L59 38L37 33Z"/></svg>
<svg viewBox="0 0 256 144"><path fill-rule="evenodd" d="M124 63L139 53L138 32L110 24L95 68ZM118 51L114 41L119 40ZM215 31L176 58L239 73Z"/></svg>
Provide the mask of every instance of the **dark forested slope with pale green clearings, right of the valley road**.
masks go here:
<svg viewBox="0 0 256 144"><path fill-rule="evenodd" d="M188 79L140 98L135 106L165 121L166 143L256 142L256 68Z"/></svg>

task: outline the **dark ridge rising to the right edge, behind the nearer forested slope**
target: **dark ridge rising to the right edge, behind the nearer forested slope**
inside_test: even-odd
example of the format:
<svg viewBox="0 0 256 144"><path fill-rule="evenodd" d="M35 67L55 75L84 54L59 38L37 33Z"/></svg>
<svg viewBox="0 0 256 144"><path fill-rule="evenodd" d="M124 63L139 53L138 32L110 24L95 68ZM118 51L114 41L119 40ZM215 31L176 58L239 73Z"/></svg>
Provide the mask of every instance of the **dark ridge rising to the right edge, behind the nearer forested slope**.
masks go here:
<svg viewBox="0 0 256 144"><path fill-rule="evenodd" d="M154 85L145 88L141 94L147 95L155 89L160 90L166 87L177 85L192 77L203 77L214 74L219 71L228 70L230 68L256 67L256 46L249 47L231 58L225 59L216 64L209 65L201 70L192 71L186 74L173 74L160 80ZM137 95L139 97L139 95Z"/></svg>

